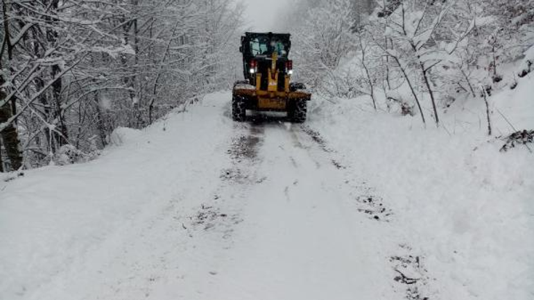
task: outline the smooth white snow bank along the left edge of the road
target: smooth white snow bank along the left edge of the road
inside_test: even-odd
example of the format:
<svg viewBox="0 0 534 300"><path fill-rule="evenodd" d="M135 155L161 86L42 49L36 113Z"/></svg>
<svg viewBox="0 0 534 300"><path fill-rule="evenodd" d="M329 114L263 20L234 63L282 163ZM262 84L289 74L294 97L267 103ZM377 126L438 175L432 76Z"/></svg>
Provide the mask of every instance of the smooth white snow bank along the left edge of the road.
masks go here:
<svg viewBox="0 0 534 300"><path fill-rule="evenodd" d="M225 103L199 105L192 113L220 115ZM130 230L135 220L150 215L150 204L166 203L175 191L196 183L216 182L226 157L216 145L226 142L226 131L231 131L221 122L232 121L189 114L171 113L142 131L118 128L110 140L114 147L98 160L32 169L8 183L0 181L0 299L98 294L103 287L95 278L105 281L113 275L94 268L110 263L106 251L116 249L124 235L138 234ZM197 168L205 172L199 174ZM203 198L192 199L196 205L193 201ZM131 270L114 272L127 277ZM68 286L73 278L81 284Z"/></svg>

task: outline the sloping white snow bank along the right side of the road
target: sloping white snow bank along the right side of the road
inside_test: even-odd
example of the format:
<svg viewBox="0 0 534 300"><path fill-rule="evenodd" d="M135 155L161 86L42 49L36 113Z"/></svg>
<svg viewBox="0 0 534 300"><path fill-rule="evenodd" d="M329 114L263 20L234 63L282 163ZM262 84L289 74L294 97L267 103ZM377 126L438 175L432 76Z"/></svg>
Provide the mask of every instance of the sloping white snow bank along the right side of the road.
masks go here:
<svg viewBox="0 0 534 300"><path fill-rule="evenodd" d="M534 128L532 94L534 78L523 78L490 98L497 135ZM368 97L313 101L310 126L381 191L392 230L423 253L431 299L532 299L534 154L499 152L481 99L427 129L418 116L375 113Z"/></svg>

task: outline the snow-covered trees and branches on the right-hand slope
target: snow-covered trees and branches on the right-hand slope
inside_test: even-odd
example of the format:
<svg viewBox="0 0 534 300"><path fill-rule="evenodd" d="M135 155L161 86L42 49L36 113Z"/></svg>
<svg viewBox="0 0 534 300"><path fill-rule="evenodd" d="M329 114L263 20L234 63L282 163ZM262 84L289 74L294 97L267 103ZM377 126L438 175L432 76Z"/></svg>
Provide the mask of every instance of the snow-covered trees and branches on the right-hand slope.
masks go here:
<svg viewBox="0 0 534 300"><path fill-rule="evenodd" d="M302 0L295 9L286 24L303 81L344 97L382 88L386 99L417 106L423 122L429 106L438 125L440 108L498 88L501 65L534 44L533 0Z"/></svg>

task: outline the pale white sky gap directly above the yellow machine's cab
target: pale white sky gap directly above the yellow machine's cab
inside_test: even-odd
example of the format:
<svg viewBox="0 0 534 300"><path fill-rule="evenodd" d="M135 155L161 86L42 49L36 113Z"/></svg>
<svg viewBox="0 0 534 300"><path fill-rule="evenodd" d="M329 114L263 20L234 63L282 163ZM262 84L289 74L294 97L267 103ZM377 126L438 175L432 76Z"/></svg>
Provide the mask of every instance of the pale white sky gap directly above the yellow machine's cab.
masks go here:
<svg viewBox="0 0 534 300"><path fill-rule="evenodd" d="M287 6L288 0L246 0L247 28L253 31L276 31L277 12Z"/></svg>

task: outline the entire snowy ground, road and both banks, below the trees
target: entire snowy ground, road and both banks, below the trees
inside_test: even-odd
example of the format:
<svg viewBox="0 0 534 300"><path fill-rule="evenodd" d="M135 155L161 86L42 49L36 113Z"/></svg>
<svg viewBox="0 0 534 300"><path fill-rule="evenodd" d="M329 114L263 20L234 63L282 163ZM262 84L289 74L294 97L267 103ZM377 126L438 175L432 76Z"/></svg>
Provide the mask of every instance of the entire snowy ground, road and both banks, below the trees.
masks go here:
<svg viewBox="0 0 534 300"><path fill-rule="evenodd" d="M447 133L361 99L236 124L229 99L0 183L0 299L534 296L534 156L460 105Z"/></svg>

